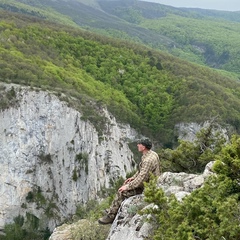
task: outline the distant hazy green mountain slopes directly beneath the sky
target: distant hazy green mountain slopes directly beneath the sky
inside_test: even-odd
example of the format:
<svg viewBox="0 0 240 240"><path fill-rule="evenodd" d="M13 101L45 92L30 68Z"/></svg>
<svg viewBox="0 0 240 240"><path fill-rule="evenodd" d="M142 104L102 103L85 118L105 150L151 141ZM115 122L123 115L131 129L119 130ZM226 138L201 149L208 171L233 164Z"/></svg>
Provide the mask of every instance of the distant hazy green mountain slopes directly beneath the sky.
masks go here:
<svg viewBox="0 0 240 240"><path fill-rule="evenodd" d="M137 0L0 0L0 8L131 40L240 75L240 12Z"/></svg>

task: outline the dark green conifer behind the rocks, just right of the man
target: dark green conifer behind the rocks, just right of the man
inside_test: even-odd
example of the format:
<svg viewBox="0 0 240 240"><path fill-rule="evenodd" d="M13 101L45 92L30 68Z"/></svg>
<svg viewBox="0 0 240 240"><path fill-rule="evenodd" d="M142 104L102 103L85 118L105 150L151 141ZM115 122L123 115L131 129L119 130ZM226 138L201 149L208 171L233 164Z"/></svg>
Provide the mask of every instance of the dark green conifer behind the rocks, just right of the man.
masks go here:
<svg viewBox="0 0 240 240"><path fill-rule="evenodd" d="M159 153L164 171L200 173L214 159L226 143L215 119L202 128L193 142L179 140L176 149L162 149Z"/></svg>

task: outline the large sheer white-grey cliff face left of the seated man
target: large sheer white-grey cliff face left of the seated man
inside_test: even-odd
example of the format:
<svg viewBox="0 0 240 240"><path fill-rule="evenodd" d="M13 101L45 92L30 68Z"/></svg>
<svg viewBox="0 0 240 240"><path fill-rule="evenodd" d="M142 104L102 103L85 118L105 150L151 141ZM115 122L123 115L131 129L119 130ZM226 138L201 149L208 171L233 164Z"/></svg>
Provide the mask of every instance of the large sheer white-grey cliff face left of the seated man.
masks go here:
<svg viewBox="0 0 240 240"><path fill-rule="evenodd" d="M128 141L136 132L104 111L110 124L99 136L55 95L14 88L18 106L0 112L0 229L28 212L47 218L53 230L78 204L132 170Z"/></svg>

